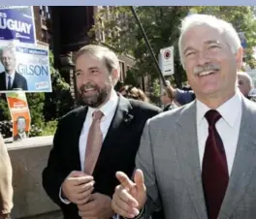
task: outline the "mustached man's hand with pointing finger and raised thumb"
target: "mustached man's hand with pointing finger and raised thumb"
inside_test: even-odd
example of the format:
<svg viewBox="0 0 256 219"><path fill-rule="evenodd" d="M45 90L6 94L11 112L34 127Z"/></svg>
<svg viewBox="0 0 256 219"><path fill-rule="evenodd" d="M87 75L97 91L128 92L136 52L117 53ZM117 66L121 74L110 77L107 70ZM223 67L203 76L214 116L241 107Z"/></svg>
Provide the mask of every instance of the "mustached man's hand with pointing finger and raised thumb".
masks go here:
<svg viewBox="0 0 256 219"><path fill-rule="evenodd" d="M115 188L112 209L123 217L134 218L139 215L146 201L144 173L137 170L134 175L135 182L124 172L116 172L116 177L121 184Z"/></svg>

